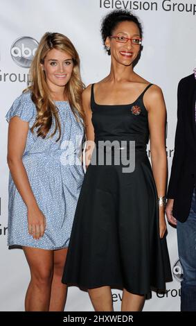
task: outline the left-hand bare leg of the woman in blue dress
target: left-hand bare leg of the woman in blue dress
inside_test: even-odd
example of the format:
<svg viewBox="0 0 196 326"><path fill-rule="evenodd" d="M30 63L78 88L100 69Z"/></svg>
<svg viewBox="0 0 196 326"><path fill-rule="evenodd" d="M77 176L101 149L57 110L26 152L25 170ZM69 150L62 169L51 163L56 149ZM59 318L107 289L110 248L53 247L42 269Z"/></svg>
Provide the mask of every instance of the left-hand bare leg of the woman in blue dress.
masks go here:
<svg viewBox="0 0 196 326"><path fill-rule="evenodd" d="M53 250L23 247L30 268L26 311L48 311L53 280Z"/></svg>

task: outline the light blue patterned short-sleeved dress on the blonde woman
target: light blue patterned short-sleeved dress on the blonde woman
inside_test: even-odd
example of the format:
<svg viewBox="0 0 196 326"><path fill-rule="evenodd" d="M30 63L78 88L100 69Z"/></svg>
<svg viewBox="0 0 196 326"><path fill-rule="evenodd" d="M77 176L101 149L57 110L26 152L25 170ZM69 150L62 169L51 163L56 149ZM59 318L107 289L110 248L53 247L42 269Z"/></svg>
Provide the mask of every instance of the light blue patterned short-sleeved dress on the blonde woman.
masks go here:
<svg viewBox="0 0 196 326"><path fill-rule="evenodd" d="M21 94L6 114L28 121L29 130L26 148L22 157L39 209L46 217L44 236L33 239L28 234L27 207L24 204L12 176L9 178L8 204L8 246L28 246L56 250L66 248L77 205L84 171L80 161L80 147L84 139L82 121L75 119L66 101L56 101L62 135L53 136L54 123L45 139L37 137L36 130L30 128L35 122L37 110L30 92Z"/></svg>

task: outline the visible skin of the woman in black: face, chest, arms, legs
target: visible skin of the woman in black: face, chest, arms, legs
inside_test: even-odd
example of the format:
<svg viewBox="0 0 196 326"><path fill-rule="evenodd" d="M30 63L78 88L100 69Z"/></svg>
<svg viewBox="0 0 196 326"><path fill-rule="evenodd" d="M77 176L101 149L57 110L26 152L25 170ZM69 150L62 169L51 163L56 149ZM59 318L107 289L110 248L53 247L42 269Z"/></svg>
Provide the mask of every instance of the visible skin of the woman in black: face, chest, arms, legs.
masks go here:
<svg viewBox="0 0 196 326"><path fill-rule="evenodd" d="M139 28L133 22L119 23L112 35L124 35L125 37L140 37ZM133 103L143 92L149 82L133 71L132 62L140 51L139 45L133 45L130 40L122 44L115 39L107 37L105 42L111 51L111 71L109 75L94 86L95 101L101 105L118 105ZM94 140L92 112L90 105L91 85L83 92L83 107L87 123L86 164L89 165ZM152 172L157 186L158 196L166 194L167 159L165 144L166 105L161 89L152 85L145 93L143 102L148 110L148 123L150 129L150 152L152 160ZM160 238L166 232L166 220L164 208L159 209L159 234ZM109 286L101 286L89 289L89 296L96 311L113 311L112 293ZM130 293L123 289L121 311L141 311L144 304L144 296Z"/></svg>

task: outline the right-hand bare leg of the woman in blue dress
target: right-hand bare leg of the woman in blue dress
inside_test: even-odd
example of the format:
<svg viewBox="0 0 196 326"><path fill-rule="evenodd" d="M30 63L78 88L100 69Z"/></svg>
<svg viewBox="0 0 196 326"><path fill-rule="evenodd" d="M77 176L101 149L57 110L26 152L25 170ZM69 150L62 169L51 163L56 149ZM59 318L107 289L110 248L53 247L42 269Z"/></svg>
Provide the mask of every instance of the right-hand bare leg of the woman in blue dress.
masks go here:
<svg viewBox="0 0 196 326"><path fill-rule="evenodd" d="M67 248L54 251L53 282L49 311L64 311L67 286L62 284L62 273L66 261Z"/></svg>

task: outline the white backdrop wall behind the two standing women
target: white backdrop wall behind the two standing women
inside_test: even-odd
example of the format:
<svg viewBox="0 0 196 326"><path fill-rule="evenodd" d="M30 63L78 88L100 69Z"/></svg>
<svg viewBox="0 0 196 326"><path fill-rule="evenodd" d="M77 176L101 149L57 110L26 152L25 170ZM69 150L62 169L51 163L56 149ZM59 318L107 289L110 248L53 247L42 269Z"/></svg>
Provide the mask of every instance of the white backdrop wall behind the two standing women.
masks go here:
<svg viewBox="0 0 196 326"><path fill-rule="evenodd" d="M22 250L6 246L8 216L7 123L5 114L26 88L28 59L36 40L46 31L67 35L78 49L84 83L94 83L109 72L109 57L100 38L100 18L114 8L127 8L143 23L143 52L135 71L159 85L168 110L168 164L173 157L177 84L196 67L196 1L190 0L0 0L0 311L24 311L29 271ZM21 38L23 37L23 38ZM29 37L32 37L30 39ZM17 40L19 39L19 40ZM15 42L17 40L17 42ZM28 48L28 49L27 49ZM26 57L26 58L24 58ZM168 293L152 293L144 311L179 311L181 267L176 230L168 225L168 248L174 280ZM121 291L113 290L114 309L121 309ZM92 311L87 293L70 287L66 311Z"/></svg>

